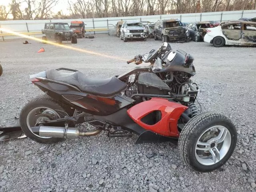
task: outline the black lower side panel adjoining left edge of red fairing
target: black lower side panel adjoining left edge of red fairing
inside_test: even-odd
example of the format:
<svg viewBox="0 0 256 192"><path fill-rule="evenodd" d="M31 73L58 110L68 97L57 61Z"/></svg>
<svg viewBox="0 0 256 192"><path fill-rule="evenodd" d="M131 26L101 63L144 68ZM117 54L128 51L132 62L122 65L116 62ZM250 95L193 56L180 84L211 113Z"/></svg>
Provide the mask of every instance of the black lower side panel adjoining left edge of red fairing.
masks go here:
<svg viewBox="0 0 256 192"><path fill-rule="evenodd" d="M108 116L94 115L94 118L102 122L110 122L113 126L121 126L122 128L126 128L127 130L139 135L146 131L130 118L127 114L127 109L125 108Z"/></svg>

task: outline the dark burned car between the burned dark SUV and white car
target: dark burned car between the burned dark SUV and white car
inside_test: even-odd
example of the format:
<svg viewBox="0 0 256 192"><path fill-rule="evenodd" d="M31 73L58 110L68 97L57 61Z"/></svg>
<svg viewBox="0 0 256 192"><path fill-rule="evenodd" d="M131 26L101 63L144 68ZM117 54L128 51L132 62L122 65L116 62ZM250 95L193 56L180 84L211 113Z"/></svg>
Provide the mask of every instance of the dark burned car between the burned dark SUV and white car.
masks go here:
<svg viewBox="0 0 256 192"><path fill-rule="evenodd" d="M210 22L195 22L187 25L189 30L189 36L195 42L202 41L204 39L204 35L206 34L206 28L215 27Z"/></svg>

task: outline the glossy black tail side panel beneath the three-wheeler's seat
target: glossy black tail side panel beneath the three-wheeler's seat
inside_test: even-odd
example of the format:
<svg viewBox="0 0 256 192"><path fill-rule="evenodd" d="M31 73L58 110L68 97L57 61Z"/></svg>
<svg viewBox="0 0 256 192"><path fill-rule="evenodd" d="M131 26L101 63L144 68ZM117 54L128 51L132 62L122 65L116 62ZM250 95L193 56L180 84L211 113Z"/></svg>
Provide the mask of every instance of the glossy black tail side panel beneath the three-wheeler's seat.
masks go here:
<svg viewBox="0 0 256 192"><path fill-rule="evenodd" d="M38 81L34 84L55 100L92 115L106 116L132 104L132 99L124 95L106 98L80 92L75 87L56 82Z"/></svg>

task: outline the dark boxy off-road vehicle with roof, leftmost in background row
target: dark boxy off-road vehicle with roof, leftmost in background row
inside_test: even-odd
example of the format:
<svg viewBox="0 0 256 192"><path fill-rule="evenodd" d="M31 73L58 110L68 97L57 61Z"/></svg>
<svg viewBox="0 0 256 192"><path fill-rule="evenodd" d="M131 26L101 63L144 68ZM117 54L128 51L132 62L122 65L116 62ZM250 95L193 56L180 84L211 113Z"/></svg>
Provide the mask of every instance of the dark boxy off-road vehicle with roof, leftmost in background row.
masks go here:
<svg viewBox="0 0 256 192"><path fill-rule="evenodd" d="M73 30L70 30L68 23L46 23L42 33L45 34L42 36L42 40L55 40L58 44L61 44L62 41L77 43L76 35Z"/></svg>

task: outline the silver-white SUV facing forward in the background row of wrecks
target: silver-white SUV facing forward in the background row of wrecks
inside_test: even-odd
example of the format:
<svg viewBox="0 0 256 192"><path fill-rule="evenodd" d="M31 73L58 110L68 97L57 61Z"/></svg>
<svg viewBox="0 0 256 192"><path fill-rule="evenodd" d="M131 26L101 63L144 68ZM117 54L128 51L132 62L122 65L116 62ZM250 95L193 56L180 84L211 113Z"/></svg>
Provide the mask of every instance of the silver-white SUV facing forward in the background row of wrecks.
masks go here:
<svg viewBox="0 0 256 192"><path fill-rule="evenodd" d="M144 28L141 21L124 21L120 29L120 39L127 42L128 39L143 39L147 40Z"/></svg>

